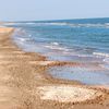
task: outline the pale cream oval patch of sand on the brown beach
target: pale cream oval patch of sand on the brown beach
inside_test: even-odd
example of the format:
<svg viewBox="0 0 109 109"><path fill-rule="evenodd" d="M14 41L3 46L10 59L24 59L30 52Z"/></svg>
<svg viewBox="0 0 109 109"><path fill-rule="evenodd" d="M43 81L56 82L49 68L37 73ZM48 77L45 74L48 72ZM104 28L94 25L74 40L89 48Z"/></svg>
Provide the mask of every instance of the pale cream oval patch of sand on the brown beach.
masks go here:
<svg viewBox="0 0 109 109"><path fill-rule="evenodd" d="M38 87L40 99L56 100L60 102L81 102L93 100L102 95L102 93L78 86L52 85Z"/></svg>

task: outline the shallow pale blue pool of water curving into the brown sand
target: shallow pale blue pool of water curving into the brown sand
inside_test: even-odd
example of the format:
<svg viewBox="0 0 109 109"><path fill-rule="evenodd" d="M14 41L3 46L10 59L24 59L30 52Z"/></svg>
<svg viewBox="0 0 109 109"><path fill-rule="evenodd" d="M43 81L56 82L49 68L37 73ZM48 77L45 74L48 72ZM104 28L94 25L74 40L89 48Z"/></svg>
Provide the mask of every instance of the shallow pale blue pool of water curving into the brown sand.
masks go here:
<svg viewBox="0 0 109 109"><path fill-rule="evenodd" d="M86 68L55 66L49 69L49 74L57 78L78 81L88 85L109 85L109 72L89 70Z"/></svg>

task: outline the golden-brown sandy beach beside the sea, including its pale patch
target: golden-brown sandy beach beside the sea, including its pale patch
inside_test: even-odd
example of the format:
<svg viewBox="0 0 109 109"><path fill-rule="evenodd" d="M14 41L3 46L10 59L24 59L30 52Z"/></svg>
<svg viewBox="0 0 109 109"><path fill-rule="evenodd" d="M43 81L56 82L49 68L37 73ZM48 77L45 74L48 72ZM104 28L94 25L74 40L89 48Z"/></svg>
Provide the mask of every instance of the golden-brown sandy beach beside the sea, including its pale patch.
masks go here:
<svg viewBox="0 0 109 109"><path fill-rule="evenodd" d="M109 109L108 86L53 78L49 66L80 64L24 52L12 41L13 32L0 28L0 109Z"/></svg>

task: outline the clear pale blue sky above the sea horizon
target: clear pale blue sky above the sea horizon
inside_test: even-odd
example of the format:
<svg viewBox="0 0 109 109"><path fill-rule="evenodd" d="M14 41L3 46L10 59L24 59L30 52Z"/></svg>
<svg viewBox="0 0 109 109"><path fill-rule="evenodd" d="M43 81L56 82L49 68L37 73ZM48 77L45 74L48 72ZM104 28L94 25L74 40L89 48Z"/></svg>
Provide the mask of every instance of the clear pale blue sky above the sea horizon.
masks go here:
<svg viewBox="0 0 109 109"><path fill-rule="evenodd" d="M0 0L0 21L109 17L109 0Z"/></svg>

